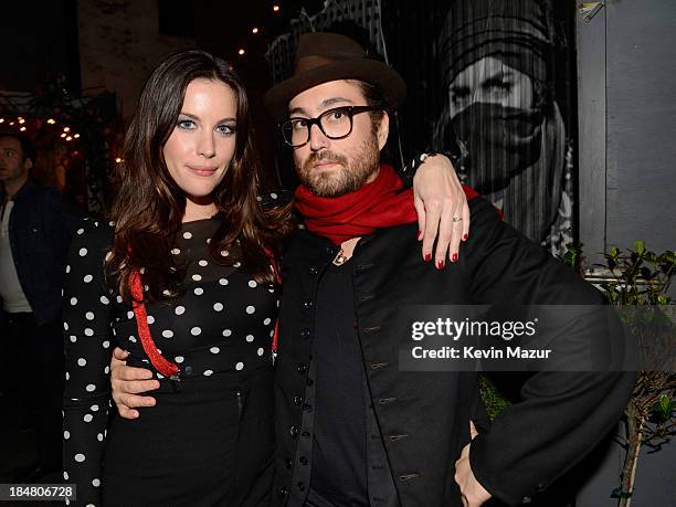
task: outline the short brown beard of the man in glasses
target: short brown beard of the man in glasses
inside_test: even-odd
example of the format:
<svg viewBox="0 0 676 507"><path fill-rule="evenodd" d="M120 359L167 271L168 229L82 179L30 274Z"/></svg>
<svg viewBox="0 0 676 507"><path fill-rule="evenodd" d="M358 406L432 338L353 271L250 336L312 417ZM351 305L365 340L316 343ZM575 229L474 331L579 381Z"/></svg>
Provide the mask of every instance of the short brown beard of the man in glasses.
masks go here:
<svg viewBox="0 0 676 507"><path fill-rule="evenodd" d="M334 162L340 167L321 170L317 162ZM297 167L298 178L317 197L339 197L363 187L380 167L378 138L373 135L359 145L348 159L330 150L310 154L303 166Z"/></svg>

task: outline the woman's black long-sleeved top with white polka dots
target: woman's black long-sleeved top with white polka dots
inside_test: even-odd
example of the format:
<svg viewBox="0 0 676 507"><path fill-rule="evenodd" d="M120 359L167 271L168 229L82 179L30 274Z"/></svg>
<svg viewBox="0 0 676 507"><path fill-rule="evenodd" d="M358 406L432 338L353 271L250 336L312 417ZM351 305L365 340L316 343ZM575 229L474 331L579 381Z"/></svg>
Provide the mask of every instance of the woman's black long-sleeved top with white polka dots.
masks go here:
<svg viewBox="0 0 676 507"><path fill-rule="evenodd" d="M258 285L239 263L223 266L211 258L208 240L219 223L209 219L183 224L172 254L188 263L186 292L146 304L155 344L192 382L272 368L277 293ZM129 362L152 370L131 308L104 279L110 237L107 224L85 221L66 267L64 478L77 484L82 505L97 503L102 483L113 347L125 348ZM229 254L236 255L234 249Z"/></svg>

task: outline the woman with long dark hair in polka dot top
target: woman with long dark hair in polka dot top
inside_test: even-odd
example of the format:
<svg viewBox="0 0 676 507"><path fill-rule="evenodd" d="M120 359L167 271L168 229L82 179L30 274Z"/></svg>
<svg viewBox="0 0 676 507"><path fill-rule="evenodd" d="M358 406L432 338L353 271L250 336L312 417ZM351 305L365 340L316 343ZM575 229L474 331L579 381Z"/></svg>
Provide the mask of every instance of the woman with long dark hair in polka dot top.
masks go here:
<svg viewBox="0 0 676 507"><path fill-rule="evenodd" d="M201 51L160 63L124 160L113 222L85 222L67 268L64 478L82 505L265 504L272 257L291 222L256 200L246 94L229 64ZM157 408L136 421L108 423L115 346L160 380Z"/></svg>

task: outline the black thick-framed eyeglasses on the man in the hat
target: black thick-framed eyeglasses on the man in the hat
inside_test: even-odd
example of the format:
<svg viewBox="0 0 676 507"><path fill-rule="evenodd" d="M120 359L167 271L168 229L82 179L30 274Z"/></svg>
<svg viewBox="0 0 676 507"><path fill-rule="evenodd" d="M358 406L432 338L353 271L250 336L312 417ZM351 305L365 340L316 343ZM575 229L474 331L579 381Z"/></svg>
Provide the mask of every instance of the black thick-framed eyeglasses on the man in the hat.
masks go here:
<svg viewBox="0 0 676 507"><path fill-rule="evenodd" d="M352 133L352 116L368 110L380 110L371 106L340 106L325 110L316 118L289 118L279 124L284 142L298 148L309 141L310 129L317 125L329 139L342 139Z"/></svg>

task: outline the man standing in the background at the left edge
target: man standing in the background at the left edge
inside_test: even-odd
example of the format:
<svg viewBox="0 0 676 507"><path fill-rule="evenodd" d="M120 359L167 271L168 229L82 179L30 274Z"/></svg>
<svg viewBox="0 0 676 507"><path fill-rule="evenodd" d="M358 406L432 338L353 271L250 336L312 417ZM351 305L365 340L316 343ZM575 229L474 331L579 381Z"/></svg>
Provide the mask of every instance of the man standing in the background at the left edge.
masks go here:
<svg viewBox="0 0 676 507"><path fill-rule="evenodd" d="M10 443L31 425L40 441L38 463L3 453L8 462L0 473L11 480L27 478L29 467L33 478L61 468L61 286L82 218L56 190L30 178L34 163L35 149L25 136L0 133L1 402L3 412L17 416L7 434ZM25 456L28 448L18 453Z"/></svg>

